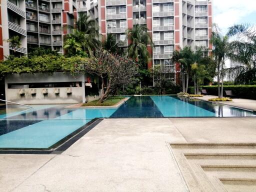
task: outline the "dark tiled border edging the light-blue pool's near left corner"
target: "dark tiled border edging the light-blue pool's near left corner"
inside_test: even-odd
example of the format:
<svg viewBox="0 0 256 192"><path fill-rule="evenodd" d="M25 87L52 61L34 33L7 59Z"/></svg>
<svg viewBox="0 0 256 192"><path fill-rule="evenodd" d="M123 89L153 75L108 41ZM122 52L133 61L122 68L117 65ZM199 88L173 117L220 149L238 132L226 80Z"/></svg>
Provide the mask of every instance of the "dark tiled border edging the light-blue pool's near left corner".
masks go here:
<svg viewBox="0 0 256 192"><path fill-rule="evenodd" d="M0 154L60 154L102 120L103 118L93 118L48 148L0 148Z"/></svg>

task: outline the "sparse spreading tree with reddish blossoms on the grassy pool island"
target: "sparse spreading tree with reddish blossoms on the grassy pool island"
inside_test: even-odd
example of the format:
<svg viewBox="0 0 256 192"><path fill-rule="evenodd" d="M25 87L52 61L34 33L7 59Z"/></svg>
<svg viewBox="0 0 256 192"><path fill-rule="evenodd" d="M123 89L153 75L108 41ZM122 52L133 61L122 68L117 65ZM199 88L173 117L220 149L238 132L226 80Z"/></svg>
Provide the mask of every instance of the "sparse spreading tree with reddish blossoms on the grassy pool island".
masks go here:
<svg viewBox="0 0 256 192"><path fill-rule="evenodd" d="M87 72L96 74L101 79L101 103L113 89L131 83L138 69L131 58L113 55L102 49L95 51L95 56L86 63L85 68Z"/></svg>

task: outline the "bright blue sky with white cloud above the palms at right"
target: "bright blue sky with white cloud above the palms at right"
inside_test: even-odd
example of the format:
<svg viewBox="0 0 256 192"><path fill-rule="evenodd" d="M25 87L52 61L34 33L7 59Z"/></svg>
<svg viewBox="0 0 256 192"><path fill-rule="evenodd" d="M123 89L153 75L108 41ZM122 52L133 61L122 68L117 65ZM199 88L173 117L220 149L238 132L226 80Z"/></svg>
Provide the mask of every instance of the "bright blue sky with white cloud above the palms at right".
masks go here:
<svg viewBox="0 0 256 192"><path fill-rule="evenodd" d="M213 22L225 33L232 24L256 24L256 0L212 0Z"/></svg>

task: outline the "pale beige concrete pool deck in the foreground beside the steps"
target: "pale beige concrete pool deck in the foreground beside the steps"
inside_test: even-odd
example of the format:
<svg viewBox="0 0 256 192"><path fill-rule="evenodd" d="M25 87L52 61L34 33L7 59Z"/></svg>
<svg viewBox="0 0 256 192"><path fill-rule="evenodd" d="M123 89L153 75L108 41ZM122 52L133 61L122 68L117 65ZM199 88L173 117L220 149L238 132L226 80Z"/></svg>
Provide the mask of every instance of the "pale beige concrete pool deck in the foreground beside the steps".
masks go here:
<svg viewBox="0 0 256 192"><path fill-rule="evenodd" d="M256 117L104 119L61 154L0 154L0 191L189 191L169 142L255 143Z"/></svg>

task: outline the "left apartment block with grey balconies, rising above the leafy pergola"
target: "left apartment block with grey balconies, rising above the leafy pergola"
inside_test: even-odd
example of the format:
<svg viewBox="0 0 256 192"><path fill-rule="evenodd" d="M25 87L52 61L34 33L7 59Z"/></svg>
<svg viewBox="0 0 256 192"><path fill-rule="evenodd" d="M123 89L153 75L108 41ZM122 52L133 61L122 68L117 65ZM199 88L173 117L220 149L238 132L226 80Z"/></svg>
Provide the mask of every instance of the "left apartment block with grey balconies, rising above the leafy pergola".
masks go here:
<svg viewBox="0 0 256 192"><path fill-rule="evenodd" d="M73 25L76 6L76 0L2 0L2 54L22 55L39 46L62 53L63 35L69 32L68 25ZM16 35L20 47L6 41Z"/></svg>

